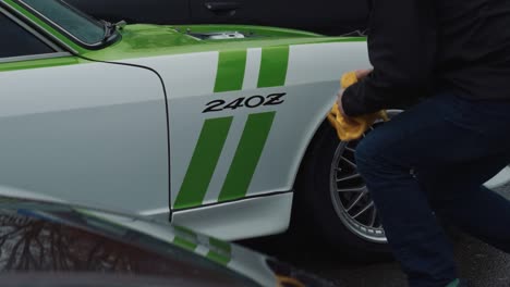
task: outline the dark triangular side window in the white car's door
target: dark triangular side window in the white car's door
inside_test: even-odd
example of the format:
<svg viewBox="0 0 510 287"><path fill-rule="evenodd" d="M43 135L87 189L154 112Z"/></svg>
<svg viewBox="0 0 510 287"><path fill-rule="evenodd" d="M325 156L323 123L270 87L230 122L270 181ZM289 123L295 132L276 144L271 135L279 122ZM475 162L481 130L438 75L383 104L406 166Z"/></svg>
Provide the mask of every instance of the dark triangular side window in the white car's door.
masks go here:
<svg viewBox="0 0 510 287"><path fill-rule="evenodd" d="M36 55L54 52L36 36L0 13L0 58Z"/></svg>

